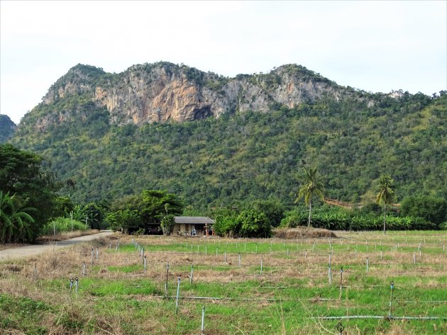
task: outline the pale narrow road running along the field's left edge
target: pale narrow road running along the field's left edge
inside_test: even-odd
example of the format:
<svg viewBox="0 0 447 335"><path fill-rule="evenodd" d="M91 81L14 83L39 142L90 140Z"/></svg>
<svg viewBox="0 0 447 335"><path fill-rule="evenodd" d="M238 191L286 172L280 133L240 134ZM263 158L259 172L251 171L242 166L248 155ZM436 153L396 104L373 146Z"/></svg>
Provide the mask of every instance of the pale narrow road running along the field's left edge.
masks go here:
<svg viewBox="0 0 447 335"><path fill-rule="evenodd" d="M35 256L43 253L43 251L48 249L60 249L67 246L72 246L73 244L92 241L92 239L98 239L100 237L106 237L113 232L100 232L98 234L86 235L82 237L75 237L74 239L66 239L65 241L58 241L53 244L35 244L32 246L21 246L19 248L4 249L0 251L0 261L5 261L6 259L20 259L21 257Z"/></svg>

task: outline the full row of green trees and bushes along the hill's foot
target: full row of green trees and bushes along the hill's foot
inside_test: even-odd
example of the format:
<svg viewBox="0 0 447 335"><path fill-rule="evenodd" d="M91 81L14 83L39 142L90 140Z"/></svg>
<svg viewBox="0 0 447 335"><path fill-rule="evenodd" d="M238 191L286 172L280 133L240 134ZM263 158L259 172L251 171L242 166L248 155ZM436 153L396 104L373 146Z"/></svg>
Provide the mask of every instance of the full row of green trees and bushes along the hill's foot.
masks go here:
<svg viewBox="0 0 447 335"><path fill-rule="evenodd" d="M50 163L38 155L1 144L0 242L33 242L40 234L51 234L56 227L58 230L111 227L124 233L170 234L174 215L214 217L216 234L230 237L270 237L274 227L307 225L308 220L304 203L288 210L279 199L270 198L201 210L185 206L174 193L150 189L75 205L70 196L62 194L74 192L77 187L71 179L64 183L57 181ZM311 226L376 230L382 227L381 215L381 208L375 203L346 210L317 202ZM447 229L446 198L427 195L404 198L399 208L389 211L387 229Z"/></svg>

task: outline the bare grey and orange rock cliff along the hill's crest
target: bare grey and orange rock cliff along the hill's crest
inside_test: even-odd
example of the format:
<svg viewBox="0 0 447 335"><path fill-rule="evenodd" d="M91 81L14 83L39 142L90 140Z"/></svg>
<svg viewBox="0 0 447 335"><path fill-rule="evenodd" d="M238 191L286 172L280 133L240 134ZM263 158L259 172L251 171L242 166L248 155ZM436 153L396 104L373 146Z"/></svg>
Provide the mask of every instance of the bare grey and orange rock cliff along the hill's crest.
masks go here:
<svg viewBox="0 0 447 335"><path fill-rule="evenodd" d="M43 104L82 96L106 107L110 123L143 125L201 120L236 111L267 112L278 104L292 108L324 96L337 100L352 91L294 64L269 74L235 78L167 62L134 65L120 74L78 64L51 86ZM67 120L70 113L55 108L40 115L35 124L44 129Z"/></svg>

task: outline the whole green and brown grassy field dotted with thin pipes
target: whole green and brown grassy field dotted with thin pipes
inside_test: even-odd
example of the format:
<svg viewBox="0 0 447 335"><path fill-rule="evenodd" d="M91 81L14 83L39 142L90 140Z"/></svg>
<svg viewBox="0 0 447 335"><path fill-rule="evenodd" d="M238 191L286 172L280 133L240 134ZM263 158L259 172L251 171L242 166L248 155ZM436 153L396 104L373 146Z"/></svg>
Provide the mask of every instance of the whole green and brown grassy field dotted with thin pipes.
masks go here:
<svg viewBox="0 0 447 335"><path fill-rule="evenodd" d="M199 334L205 306L204 334L339 334L337 319L319 317L346 316L351 319L341 320L343 334L446 334L446 232L337 235L341 238L133 237L145 250L146 272L132 237L121 237L118 250L116 238L96 242L99 260L92 266L91 244L4 261L0 333ZM75 276L78 291L70 294ZM443 319L388 319L392 280L392 315ZM352 318L365 315L383 318Z"/></svg>

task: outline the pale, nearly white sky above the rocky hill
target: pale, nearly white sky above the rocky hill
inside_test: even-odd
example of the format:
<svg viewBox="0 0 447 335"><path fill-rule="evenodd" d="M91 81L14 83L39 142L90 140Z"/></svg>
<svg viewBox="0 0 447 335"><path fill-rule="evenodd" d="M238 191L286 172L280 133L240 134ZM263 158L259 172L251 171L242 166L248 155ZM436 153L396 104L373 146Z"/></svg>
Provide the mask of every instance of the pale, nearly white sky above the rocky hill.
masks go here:
<svg viewBox="0 0 447 335"><path fill-rule="evenodd" d="M76 64L223 76L300 64L343 86L447 90L447 1L0 1L0 113L19 123Z"/></svg>

